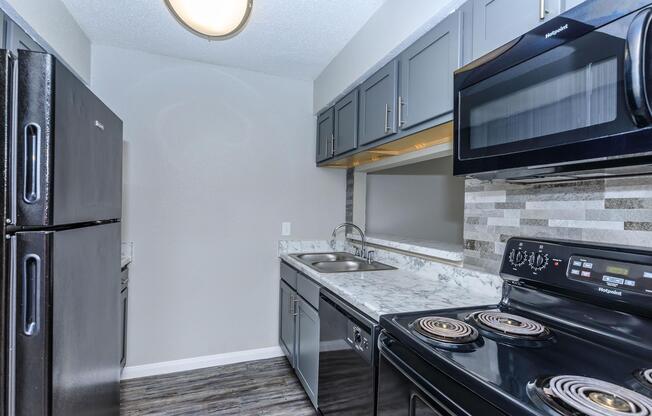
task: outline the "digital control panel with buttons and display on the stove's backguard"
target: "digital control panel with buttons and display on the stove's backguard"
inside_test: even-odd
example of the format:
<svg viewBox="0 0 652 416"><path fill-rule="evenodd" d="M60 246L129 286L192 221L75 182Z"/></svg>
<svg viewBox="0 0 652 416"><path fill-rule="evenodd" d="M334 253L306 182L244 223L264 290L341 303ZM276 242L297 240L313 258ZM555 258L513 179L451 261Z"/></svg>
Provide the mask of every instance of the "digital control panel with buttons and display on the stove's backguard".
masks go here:
<svg viewBox="0 0 652 416"><path fill-rule="evenodd" d="M604 287L607 294L623 290L652 295L652 270L648 265L571 256L566 276L575 281Z"/></svg>

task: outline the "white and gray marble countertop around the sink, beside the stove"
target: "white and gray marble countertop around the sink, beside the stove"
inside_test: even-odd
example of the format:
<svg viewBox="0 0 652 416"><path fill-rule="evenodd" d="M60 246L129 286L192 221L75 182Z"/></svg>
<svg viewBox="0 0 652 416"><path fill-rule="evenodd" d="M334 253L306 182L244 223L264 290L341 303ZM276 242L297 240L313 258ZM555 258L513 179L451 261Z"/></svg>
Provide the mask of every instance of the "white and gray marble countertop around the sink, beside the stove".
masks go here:
<svg viewBox="0 0 652 416"><path fill-rule="evenodd" d="M397 259L395 254L393 258L384 257L381 253L384 258L379 261L399 268L319 273L289 256L294 252L280 252L279 256L376 321L388 313L481 306L500 301L502 280L498 276L462 267L408 256Z"/></svg>

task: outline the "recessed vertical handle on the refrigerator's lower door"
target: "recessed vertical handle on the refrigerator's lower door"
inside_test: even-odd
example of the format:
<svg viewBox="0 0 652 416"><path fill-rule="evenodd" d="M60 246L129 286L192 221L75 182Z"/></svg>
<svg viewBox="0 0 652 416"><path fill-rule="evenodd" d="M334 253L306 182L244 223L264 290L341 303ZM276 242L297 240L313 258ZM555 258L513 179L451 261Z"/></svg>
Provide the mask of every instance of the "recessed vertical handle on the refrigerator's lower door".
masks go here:
<svg viewBox="0 0 652 416"><path fill-rule="evenodd" d="M29 254L23 259L21 315L23 333L27 336L36 334L39 330L39 298L41 292L41 258Z"/></svg>

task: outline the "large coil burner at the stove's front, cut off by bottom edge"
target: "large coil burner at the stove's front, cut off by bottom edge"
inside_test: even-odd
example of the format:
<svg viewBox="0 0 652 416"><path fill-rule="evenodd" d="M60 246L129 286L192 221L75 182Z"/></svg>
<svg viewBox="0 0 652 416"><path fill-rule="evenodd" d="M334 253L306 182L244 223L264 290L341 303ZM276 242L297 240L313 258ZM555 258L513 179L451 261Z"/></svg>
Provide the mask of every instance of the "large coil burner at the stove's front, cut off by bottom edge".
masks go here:
<svg viewBox="0 0 652 416"><path fill-rule="evenodd" d="M533 402L562 415L652 415L652 399L635 391L581 376L557 376L528 385ZM555 413L556 414L556 413Z"/></svg>

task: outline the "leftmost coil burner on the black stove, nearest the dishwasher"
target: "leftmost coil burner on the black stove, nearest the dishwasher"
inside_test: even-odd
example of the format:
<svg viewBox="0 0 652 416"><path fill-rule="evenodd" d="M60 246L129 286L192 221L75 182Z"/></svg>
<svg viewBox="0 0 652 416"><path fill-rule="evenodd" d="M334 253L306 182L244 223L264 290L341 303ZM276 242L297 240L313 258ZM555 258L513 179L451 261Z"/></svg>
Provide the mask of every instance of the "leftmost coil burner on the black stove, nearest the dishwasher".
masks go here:
<svg viewBox="0 0 652 416"><path fill-rule="evenodd" d="M467 346L475 349L473 344L479 341L478 330L458 319L426 316L414 321L411 327L428 341L444 348Z"/></svg>

